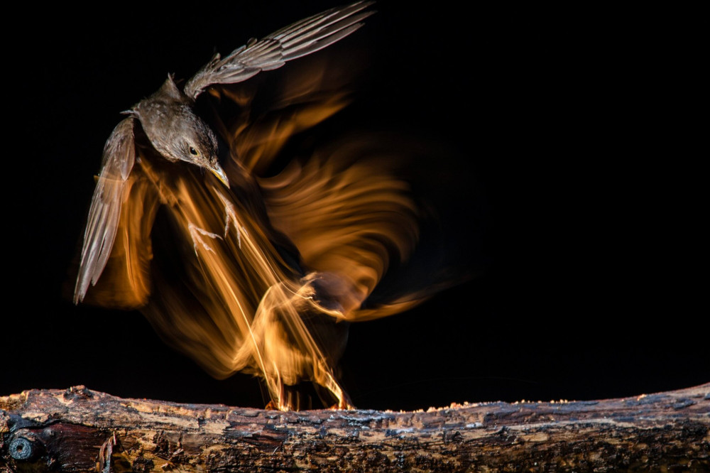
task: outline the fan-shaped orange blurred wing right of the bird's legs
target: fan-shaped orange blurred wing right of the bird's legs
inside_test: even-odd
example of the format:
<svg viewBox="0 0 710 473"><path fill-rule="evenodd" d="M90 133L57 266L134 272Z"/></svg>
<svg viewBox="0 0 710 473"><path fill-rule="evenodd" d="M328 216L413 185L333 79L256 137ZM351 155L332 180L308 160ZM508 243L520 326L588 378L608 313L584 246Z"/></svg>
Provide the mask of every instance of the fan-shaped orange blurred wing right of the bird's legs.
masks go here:
<svg viewBox="0 0 710 473"><path fill-rule="evenodd" d="M413 305L366 315L358 310L391 263L408 258L419 232L409 187L388 165L397 155L383 151L377 139L359 139L259 181L271 223L293 241L305 267L344 281L336 292L348 320Z"/></svg>

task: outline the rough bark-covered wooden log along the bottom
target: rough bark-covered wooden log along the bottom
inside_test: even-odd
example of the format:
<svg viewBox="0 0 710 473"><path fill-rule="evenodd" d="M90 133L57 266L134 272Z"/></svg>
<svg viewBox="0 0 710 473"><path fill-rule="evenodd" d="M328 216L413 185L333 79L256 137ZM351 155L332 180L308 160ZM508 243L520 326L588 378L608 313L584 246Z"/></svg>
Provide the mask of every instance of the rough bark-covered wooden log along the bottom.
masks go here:
<svg viewBox="0 0 710 473"><path fill-rule="evenodd" d="M278 412L76 386L0 398L0 471L710 471L710 383L604 401Z"/></svg>

